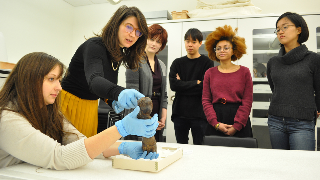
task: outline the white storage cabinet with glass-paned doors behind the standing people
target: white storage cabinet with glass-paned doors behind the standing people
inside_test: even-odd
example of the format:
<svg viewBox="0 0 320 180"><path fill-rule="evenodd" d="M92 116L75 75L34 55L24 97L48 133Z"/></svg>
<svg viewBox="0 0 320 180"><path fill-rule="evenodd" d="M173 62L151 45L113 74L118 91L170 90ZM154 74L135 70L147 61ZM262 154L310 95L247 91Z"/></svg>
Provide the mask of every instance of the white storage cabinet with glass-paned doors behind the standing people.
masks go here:
<svg viewBox="0 0 320 180"><path fill-rule="evenodd" d="M306 20L309 28L309 39L304 44L310 51L320 53L320 12L318 13L300 13ZM271 148L268 134L268 106L270 104L272 92L265 77L265 69L268 60L277 55L280 49L279 41L273 33L276 29L276 20L281 14L261 14L252 16L233 16L220 18L195 18L184 20L162 20L151 21L148 25L154 23L160 24L168 32L167 47L159 53L159 59L165 59L167 56L168 74L172 61L176 58L187 55L184 46L184 35L190 28L199 29L206 36L216 27L231 25L238 27L238 36L244 37L247 45L247 54L235 64L248 67L253 80L253 103L250 114L253 136L258 139L259 148ZM205 42L205 41L204 41ZM200 54L208 55L203 45L199 49ZM215 66L219 63L215 62ZM175 143L174 127L171 121L172 102L171 98L174 92L171 91L169 79L167 78L168 92L168 112L166 120L166 142ZM318 122L318 124L320 121ZM319 125L320 127L320 125ZM316 130L317 131L317 130ZM191 134L191 133L190 133ZM320 134L320 132L319 132ZM317 134L316 134L317 135ZM317 135L319 136L319 135ZM192 136L189 135L189 144L192 143ZM320 144L319 144L320 146Z"/></svg>

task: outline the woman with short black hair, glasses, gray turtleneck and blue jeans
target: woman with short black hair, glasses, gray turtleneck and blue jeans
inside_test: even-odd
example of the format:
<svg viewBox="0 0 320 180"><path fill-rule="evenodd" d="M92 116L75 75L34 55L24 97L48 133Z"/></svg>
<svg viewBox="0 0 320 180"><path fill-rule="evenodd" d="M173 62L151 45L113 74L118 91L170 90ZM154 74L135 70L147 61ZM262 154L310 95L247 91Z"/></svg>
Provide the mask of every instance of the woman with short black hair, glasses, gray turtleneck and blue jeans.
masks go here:
<svg viewBox="0 0 320 180"><path fill-rule="evenodd" d="M276 21L281 44L267 63L272 91L268 127L272 149L315 151L315 125L320 110L320 54L308 51L309 30L297 13Z"/></svg>

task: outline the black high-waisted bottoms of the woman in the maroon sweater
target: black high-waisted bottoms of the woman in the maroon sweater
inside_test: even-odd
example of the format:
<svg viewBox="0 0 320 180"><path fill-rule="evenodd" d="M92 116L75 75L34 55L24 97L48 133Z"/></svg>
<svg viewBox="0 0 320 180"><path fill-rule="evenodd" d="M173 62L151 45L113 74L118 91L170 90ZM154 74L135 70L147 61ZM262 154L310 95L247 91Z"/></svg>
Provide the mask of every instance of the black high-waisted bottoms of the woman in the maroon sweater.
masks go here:
<svg viewBox="0 0 320 180"><path fill-rule="evenodd" d="M237 113L237 110L239 109L239 106L241 103L215 103L213 104L213 109L217 114L218 122L223 124L234 124L234 119ZM205 135L222 135L222 136L228 136L224 133L220 132L219 130L216 131L214 127L212 127L209 123L205 128ZM252 135L252 128L251 128L251 122L250 118L248 117L247 124L245 127L243 127L240 131L236 132L233 136L236 137L253 137Z"/></svg>

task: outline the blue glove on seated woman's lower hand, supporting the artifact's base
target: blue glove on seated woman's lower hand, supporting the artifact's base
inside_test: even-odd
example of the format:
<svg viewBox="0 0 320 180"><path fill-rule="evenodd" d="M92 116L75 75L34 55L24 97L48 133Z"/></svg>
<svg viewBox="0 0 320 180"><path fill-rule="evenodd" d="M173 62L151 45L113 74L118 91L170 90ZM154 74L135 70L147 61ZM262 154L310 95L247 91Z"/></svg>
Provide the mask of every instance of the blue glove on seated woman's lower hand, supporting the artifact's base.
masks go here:
<svg viewBox="0 0 320 180"><path fill-rule="evenodd" d="M147 155L147 151L142 151L142 142L123 142L120 144L118 147L119 153L120 154L127 154L129 155L132 159L157 159L159 157L159 154L156 154L156 152L149 152Z"/></svg>

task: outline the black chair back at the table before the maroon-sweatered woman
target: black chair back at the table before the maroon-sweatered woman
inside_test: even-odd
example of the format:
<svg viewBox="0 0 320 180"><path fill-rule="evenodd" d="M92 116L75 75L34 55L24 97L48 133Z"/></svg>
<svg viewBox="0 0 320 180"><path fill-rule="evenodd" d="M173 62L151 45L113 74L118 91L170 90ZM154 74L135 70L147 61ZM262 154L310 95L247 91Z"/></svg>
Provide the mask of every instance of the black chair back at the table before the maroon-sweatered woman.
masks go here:
<svg viewBox="0 0 320 180"><path fill-rule="evenodd" d="M202 145L258 148L258 141L253 137L204 135Z"/></svg>

